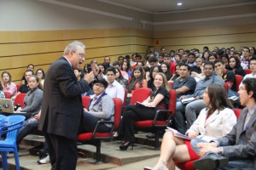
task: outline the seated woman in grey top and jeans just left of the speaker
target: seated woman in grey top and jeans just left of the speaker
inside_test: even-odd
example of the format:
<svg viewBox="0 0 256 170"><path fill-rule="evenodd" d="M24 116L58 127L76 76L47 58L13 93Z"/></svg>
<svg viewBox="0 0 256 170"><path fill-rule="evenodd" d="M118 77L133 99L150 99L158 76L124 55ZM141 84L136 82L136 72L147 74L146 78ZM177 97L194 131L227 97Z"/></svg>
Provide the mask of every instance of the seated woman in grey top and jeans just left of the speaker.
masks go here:
<svg viewBox="0 0 256 170"><path fill-rule="evenodd" d="M28 86L31 89L26 93L24 104L25 107L19 107L17 111L26 112L28 114L32 114L30 119L26 121L23 127L20 128L20 131L17 136L17 144L20 144L21 139L26 137L27 134L31 133L32 130L38 129L38 119L40 114L37 114L41 109L41 104L43 100L43 91L38 88L39 79L35 75L32 75L28 79Z"/></svg>

